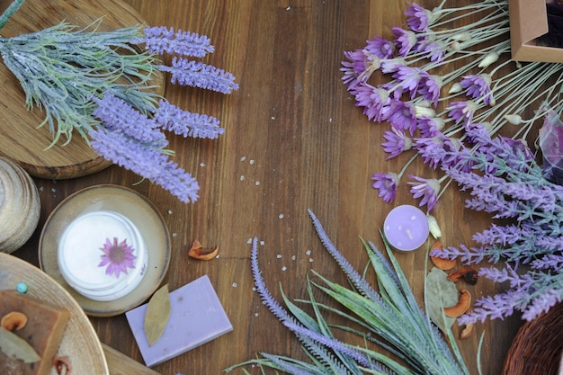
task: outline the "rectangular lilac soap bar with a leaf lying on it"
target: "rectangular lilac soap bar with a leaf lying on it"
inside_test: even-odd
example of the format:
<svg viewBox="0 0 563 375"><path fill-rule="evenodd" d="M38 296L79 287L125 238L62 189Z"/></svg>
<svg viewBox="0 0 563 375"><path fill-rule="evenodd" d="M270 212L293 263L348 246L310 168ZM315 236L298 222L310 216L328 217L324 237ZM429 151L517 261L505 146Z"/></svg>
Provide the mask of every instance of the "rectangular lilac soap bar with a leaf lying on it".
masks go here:
<svg viewBox="0 0 563 375"><path fill-rule="evenodd" d="M125 313L148 367L156 366L233 330L207 275L170 293L170 319L152 346L145 336L147 304Z"/></svg>

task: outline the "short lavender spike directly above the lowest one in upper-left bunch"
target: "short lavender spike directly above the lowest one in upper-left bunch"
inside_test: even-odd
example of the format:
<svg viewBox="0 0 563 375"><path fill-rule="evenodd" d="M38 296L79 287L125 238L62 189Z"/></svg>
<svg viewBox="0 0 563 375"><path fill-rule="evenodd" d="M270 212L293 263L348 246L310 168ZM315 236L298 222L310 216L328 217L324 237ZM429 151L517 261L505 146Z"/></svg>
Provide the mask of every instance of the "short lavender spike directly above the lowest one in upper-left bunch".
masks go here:
<svg viewBox="0 0 563 375"><path fill-rule="evenodd" d="M154 121L135 110L129 103L111 93L105 93L102 99L94 98L94 102L98 104L94 109L94 116L102 121L106 129L121 131L140 143L154 147L166 146L165 135L157 129Z"/></svg>

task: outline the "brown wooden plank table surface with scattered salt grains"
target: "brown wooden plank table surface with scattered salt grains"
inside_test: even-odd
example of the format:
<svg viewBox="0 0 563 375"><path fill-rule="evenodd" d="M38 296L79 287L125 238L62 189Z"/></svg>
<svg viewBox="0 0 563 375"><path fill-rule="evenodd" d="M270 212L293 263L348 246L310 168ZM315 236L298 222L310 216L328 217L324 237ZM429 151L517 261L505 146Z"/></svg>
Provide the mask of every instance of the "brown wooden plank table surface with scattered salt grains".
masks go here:
<svg viewBox="0 0 563 375"><path fill-rule="evenodd" d="M139 183L139 176L118 166L72 180L35 179L42 205L40 226L14 254L38 263L40 228L49 212L72 192L98 183L128 186L153 201L165 218L172 238L173 260L165 278L169 288L209 275L234 326L231 333L154 370L165 375L219 374L260 352L302 357L299 342L253 291L247 241L251 237L264 241L259 262L276 298L281 299L280 285L291 299L306 298L309 270L345 282L320 244L308 209L317 214L348 260L362 270L367 257L359 237L381 246L378 230L389 210L398 204L416 204L407 186L392 204L381 201L371 188L371 174L398 172L407 159L385 161L380 143L387 127L368 121L354 106L339 72L344 50L361 48L373 35L389 36L389 27L405 25L407 3L126 2L150 25L208 35L216 52L204 61L237 77L240 89L231 95L174 85L165 89L171 103L215 116L226 129L218 140L170 137L175 161L197 177L201 198L183 204L148 181ZM414 174L423 174L423 165L411 168ZM488 223L486 215L464 210L463 199L451 188L434 211L447 245L468 243ZM189 246L196 238L204 246L219 246L219 258L209 262L189 258ZM398 258L422 299L424 251L398 254ZM497 288L483 280L471 291L478 297ZM142 362L124 315L92 318L92 322L103 343ZM520 325L518 317L479 324L478 335L460 342L469 368L477 374L477 341L485 330L483 373L500 373Z"/></svg>

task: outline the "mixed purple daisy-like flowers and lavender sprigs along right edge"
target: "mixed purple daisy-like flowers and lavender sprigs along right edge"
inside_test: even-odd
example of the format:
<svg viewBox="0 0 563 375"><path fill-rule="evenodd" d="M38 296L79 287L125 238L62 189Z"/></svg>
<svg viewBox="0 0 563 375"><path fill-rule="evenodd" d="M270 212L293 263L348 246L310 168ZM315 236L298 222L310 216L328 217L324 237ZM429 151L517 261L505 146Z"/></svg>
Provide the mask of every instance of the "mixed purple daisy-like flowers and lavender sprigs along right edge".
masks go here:
<svg viewBox="0 0 563 375"><path fill-rule="evenodd" d="M550 156L544 171L526 144L538 120L545 129L559 125L563 64L511 59L507 0L452 8L444 0L428 9L411 3L406 15L407 29L393 27L393 40L376 36L344 53L343 81L356 105L371 121L390 124L381 144L388 158L412 154L401 171L373 174L373 187L393 201L408 166L420 158L442 172L410 175L410 192L429 214L455 181L471 193L466 207L511 220L475 234L478 246L446 246L433 255L496 263L480 275L508 284L479 299L460 323L515 311L532 320L563 299L562 188L548 180L558 171L559 138L551 131L542 143ZM536 110L524 119L532 105ZM495 137L505 130L510 138Z"/></svg>

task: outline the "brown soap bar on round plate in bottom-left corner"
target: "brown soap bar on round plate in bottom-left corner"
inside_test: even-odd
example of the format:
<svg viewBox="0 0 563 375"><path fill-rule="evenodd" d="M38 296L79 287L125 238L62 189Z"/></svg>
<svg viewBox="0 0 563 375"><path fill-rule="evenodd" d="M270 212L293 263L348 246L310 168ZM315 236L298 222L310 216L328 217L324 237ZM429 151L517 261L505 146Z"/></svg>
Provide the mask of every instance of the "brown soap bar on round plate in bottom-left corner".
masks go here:
<svg viewBox="0 0 563 375"><path fill-rule="evenodd" d="M0 290L0 317L20 311L27 324L13 333L26 340L40 355L40 362L23 363L0 352L0 373L17 375L46 375L51 373L53 357L58 351L70 313L48 302L13 290Z"/></svg>

